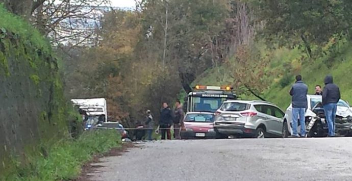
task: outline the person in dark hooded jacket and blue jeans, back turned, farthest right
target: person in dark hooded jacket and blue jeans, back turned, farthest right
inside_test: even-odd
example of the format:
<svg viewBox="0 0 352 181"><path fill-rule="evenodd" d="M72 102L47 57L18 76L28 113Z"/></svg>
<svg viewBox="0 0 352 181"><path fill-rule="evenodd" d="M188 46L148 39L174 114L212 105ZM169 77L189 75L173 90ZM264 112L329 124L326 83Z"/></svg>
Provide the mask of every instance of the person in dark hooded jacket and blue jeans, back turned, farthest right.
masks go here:
<svg viewBox="0 0 352 181"><path fill-rule="evenodd" d="M322 94L322 105L324 107L325 118L328 122L329 137L335 136L335 117L337 102L340 100L340 88L333 83L333 76L326 75L324 79L324 90Z"/></svg>

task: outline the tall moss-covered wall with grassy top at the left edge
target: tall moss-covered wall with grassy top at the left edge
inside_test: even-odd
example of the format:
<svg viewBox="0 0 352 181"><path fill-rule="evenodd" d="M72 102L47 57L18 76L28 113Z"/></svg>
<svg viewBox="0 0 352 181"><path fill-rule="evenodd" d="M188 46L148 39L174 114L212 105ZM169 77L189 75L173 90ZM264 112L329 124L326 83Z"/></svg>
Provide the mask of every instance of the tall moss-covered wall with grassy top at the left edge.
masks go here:
<svg viewBox="0 0 352 181"><path fill-rule="evenodd" d="M48 41L0 4L0 174L9 157L26 161L29 152L68 136L58 60ZM43 151L44 150L44 151ZM16 165L16 164L15 164Z"/></svg>

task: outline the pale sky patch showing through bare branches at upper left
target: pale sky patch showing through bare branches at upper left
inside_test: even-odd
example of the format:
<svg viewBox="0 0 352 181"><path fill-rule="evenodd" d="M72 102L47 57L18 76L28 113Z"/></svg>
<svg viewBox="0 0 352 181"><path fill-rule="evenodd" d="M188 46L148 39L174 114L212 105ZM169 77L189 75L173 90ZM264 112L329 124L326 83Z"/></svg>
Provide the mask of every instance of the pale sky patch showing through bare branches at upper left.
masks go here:
<svg viewBox="0 0 352 181"><path fill-rule="evenodd" d="M111 9L109 0L37 0L31 21L53 45L95 45L97 30L104 12Z"/></svg>

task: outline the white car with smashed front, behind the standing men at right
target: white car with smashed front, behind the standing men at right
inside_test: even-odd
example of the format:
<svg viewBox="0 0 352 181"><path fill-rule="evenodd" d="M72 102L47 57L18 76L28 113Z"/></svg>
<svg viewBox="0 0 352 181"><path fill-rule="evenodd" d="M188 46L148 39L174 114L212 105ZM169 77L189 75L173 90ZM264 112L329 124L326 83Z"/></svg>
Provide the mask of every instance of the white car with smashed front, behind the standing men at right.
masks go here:
<svg viewBox="0 0 352 181"><path fill-rule="evenodd" d="M320 95L307 95L308 109L305 114L306 137L325 137L328 135L328 124L326 124L324 109L321 104ZM298 120L298 134L300 135L300 123ZM352 135L352 111L348 103L342 99L337 104L335 118L336 136ZM292 105L285 113L282 136L286 138L292 135Z"/></svg>

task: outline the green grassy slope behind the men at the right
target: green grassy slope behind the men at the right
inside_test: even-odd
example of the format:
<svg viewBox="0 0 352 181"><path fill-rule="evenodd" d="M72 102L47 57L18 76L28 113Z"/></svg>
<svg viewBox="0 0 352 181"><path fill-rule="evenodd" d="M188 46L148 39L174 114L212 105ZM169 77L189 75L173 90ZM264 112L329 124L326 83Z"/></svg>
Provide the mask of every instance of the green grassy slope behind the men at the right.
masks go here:
<svg viewBox="0 0 352 181"><path fill-rule="evenodd" d="M325 54L312 59L307 58L307 55L298 48L279 48L271 51L261 48L263 55L271 55L270 69L281 72L281 75L271 77L272 84L268 85L268 89L263 92L263 96L266 100L285 110L290 104L288 91L294 83L295 74L299 73L303 76L309 87L309 93L314 93L315 85L323 86L323 79L326 74L332 74L334 83L340 87L342 99L352 102L352 79L350 75L352 71L352 48L349 46L350 44L346 40L340 40L334 46L328 43L322 47ZM291 68L287 69L287 67ZM233 79L227 75L231 71L224 66L220 67L220 71L217 71L216 68L208 70L194 81L194 84L223 85L232 83ZM248 71L248 73L250 72ZM242 96L242 98L256 99L253 96Z"/></svg>

